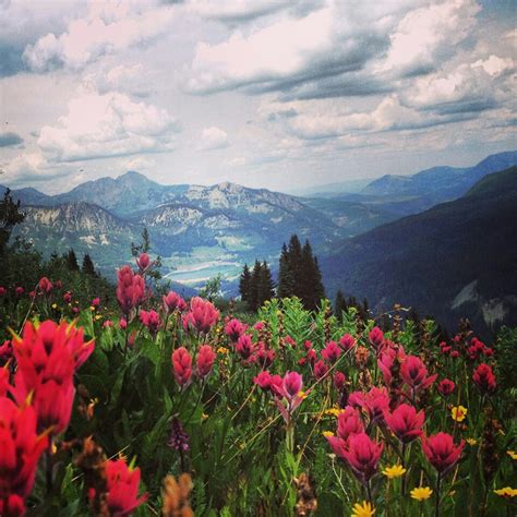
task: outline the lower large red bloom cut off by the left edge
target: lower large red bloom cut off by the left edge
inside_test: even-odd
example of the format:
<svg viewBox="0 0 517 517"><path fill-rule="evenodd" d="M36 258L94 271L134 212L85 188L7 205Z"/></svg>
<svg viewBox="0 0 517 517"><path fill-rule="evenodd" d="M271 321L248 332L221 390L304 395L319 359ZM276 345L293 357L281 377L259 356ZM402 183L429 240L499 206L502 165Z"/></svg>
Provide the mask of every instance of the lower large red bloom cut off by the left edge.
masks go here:
<svg viewBox="0 0 517 517"><path fill-rule="evenodd" d="M33 406L25 402L17 406L10 398L0 397L0 515L3 515L2 506L24 508L23 498L33 490L39 456L48 446L47 435L37 435ZM19 498L11 500L12 495Z"/></svg>

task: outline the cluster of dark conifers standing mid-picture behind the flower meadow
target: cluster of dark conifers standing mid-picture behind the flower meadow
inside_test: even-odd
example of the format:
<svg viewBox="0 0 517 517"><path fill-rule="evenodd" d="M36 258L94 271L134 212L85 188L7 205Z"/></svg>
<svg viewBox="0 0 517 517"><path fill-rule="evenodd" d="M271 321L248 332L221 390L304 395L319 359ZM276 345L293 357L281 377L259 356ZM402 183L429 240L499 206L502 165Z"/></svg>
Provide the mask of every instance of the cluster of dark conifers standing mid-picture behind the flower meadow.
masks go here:
<svg viewBox="0 0 517 517"><path fill-rule="evenodd" d="M250 311L256 311L266 300L274 298L275 284L267 263L257 261L253 269L250 269L248 264L244 265L239 290ZM298 297L309 310L316 309L325 297L317 258L309 240L302 247L298 236L293 235L289 244L282 245L276 296Z"/></svg>

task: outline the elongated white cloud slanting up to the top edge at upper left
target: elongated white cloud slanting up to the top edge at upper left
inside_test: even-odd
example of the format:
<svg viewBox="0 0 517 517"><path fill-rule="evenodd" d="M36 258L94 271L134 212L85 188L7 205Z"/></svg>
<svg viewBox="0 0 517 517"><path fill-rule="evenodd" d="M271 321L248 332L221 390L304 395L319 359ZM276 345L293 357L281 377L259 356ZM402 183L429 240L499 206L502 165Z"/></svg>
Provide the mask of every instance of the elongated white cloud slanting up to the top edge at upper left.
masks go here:
<svg viewBox="0 0 517 517"><path fill-rule="evenodd" d="M175 19L170 7L137 2L92 2L86 17L70 22L60 35L48 33L23 55L35 72L67 67L79 70L100 56L145 45L163 35Z"/></svg>

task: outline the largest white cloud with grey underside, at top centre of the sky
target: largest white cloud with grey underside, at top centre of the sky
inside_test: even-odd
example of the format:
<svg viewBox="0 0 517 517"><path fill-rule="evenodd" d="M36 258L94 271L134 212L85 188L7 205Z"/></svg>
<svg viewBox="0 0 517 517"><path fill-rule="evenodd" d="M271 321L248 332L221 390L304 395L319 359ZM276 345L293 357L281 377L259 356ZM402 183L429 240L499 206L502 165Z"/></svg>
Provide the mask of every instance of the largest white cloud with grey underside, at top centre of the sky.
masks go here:
<svg viewBox="0 0 517 517"><path fill-rule="evenodd" d="M320 81L358 72L388 48L393 14L407 7L380 3L335 2L302 17L279 17L250 34L236 31L221 43L199 43L187 89L201 95L235 88L296 95L297 88L313 82L308 89L315 95ZM350 91L358 91L359 79L351 83ZM327 89L334 92L327 95L335 96L336 87L330 82ZM300 95L311 96L308 91Z"/></svg>

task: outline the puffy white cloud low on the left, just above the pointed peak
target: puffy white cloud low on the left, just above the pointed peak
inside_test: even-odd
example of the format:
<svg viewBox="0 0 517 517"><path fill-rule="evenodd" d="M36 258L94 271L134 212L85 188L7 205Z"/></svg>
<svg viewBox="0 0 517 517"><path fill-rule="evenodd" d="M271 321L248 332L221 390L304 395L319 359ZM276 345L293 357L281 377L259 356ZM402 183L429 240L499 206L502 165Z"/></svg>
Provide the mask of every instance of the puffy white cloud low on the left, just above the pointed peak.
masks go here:
<svg viewBox="0 0 517 517"><path fill-rule="evenodd" d="M53 161L124 156L170 149L179 130L165 109L117 92L84 92L56 125L41 128L37 145Z"/></svg>

